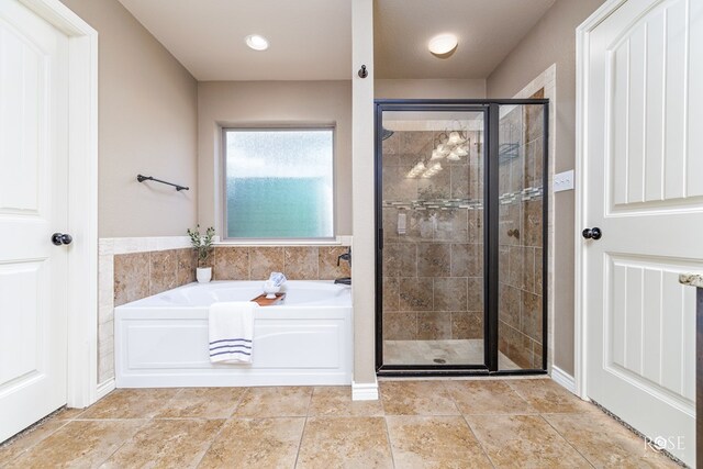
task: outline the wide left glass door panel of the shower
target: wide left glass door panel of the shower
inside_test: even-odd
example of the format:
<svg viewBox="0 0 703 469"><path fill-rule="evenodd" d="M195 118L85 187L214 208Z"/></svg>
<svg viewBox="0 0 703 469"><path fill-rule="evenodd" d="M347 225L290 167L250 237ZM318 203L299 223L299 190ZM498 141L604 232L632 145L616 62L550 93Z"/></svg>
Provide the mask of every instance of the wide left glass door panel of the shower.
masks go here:
<svg viewBox="0 0 703 469"><path fill-rule="evenodd" d="M484 368L481 107L383 110L382 366Z"/></svg>

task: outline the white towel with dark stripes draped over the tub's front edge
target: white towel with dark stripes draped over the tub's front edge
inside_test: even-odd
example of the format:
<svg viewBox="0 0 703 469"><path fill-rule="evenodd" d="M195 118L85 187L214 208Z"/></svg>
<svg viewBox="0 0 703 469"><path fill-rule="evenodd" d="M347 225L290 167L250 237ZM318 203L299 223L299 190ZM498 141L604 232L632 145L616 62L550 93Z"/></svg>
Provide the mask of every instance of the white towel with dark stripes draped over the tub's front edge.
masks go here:
<svg viewBox="0 0 703 469"><path fill-rule="evenodd" d="M258 306L253 301L213 303L210 306L210 361L252 362L254 311Z"/></svg>

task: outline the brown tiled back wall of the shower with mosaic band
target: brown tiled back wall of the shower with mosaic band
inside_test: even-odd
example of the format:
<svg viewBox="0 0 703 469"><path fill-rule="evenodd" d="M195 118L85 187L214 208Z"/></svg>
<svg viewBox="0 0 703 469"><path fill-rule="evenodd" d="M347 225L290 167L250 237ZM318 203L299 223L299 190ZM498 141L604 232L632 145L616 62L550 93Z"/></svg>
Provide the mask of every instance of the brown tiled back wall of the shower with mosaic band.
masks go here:
<svg viewBox="0 0 703 469"><path fill-rule="evenodd" d="M483 337L481 152L470 133L468 157L443 160L429 179L409 179L435 136L397 132L383 142L384 339ZM398 233L401 213L404 234Z"/></svg>

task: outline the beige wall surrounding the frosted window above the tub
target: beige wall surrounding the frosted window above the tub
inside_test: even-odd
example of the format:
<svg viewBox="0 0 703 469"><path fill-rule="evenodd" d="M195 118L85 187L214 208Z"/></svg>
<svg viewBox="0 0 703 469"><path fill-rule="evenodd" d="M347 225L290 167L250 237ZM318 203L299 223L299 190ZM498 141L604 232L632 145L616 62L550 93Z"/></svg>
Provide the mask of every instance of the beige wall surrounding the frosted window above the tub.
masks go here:
<svg viewBox="0 0 703 469"><path fill-rule="evenodd" d="M336 124L335 222L352 234L352 83L349 81L204 81L198 83L198 217L221 222L216 181L222 126Z"/></svg>

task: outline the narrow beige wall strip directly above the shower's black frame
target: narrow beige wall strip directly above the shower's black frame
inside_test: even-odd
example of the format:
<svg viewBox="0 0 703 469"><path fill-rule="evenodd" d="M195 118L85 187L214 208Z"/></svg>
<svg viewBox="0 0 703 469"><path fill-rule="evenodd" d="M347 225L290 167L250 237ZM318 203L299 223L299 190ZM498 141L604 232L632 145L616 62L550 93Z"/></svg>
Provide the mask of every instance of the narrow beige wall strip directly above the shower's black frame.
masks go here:
<svg viewBox="0 0 703 469"><path fill-rule="evenodd" d="M486 98L486 80L477 79L378 79L376 99L480 99Z"/></svg>

